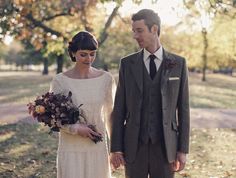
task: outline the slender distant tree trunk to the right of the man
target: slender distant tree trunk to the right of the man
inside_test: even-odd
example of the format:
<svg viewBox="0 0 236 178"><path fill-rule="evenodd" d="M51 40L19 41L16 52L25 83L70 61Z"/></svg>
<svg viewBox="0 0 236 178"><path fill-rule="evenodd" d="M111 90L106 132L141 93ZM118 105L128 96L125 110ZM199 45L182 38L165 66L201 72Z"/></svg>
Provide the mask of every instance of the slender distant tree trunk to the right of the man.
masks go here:
<svg viewBox="0 0 236 178"><path fill-rule="evenodd" d="M202 54L202 81L206 81L206 70L207 70L207 48L208 48L208 39L206 28L202 29L203 37L203 54Z"/></svg>

